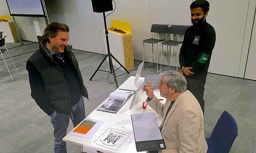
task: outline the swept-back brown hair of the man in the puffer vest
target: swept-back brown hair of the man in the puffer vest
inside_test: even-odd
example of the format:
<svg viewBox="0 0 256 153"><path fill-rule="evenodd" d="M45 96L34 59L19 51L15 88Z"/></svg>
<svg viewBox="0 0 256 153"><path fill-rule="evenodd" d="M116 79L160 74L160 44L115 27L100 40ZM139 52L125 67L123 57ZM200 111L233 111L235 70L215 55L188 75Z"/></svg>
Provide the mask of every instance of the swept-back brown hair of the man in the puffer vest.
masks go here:
<svg viewBox="0 0 256 153"><path fill-rule="evenodd" d="M50 37L56 37L59 31L69 32L69 28L64 23L52 22L44 29L43 39L50 43Z"/></svg>

